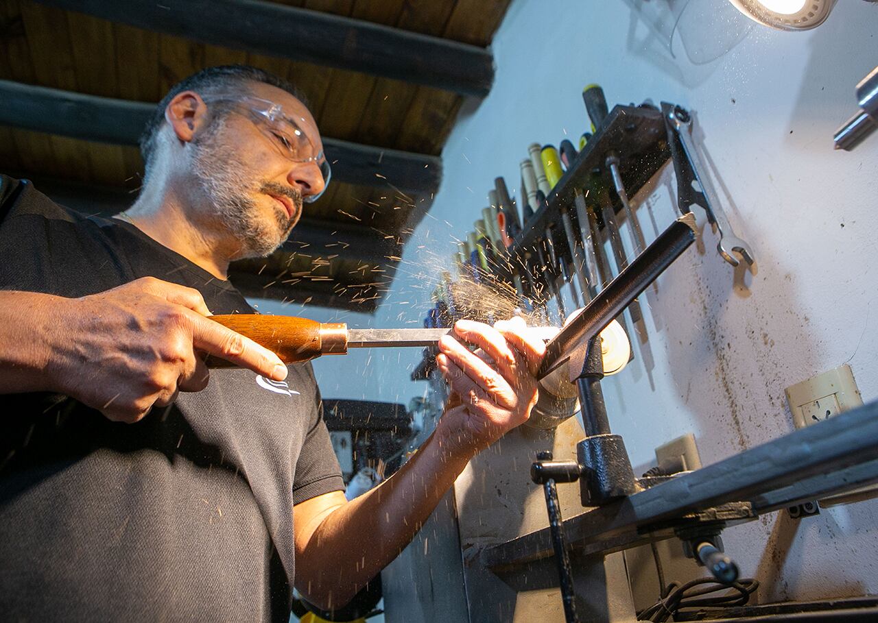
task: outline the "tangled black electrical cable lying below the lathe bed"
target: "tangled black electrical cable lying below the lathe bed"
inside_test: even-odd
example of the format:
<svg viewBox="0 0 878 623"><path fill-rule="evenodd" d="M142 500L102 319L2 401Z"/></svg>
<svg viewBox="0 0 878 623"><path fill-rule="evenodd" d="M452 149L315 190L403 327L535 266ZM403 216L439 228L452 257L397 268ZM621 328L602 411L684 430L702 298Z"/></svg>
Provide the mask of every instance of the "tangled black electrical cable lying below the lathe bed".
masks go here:
<svg viewBox="0 0 878 623"><path fill-rule="evenodd" d="M702 586L703 584L708 586ZM697 586L702 588L695 588ZM702 577L682 585L672 582L667 585L658 602L637 612L637 619L661 623L673 617L681 608L728 608L745 605L758 588L759 582L752 578L738 580L733 584L722 584L713 577ZM717 591L731 592L699 599L702 595Z"/></svg>

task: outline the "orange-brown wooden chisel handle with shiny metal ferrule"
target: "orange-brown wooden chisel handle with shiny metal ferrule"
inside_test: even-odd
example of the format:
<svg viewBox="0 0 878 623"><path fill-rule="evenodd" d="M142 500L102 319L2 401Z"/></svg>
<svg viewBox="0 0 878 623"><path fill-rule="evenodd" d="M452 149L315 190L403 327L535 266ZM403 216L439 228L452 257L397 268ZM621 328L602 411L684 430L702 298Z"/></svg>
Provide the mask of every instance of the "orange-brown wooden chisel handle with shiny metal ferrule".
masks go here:
<svg viewBox="0 0 878 623"><path fill-rule="evenodd" d="M317 322L294 316L263 314L228 314L208 318L268 348L284 363L307 362L321 354L348 352L348 326L343 322ZM207 365L210 368L227 368L233 364L210 357Z"/></svg>

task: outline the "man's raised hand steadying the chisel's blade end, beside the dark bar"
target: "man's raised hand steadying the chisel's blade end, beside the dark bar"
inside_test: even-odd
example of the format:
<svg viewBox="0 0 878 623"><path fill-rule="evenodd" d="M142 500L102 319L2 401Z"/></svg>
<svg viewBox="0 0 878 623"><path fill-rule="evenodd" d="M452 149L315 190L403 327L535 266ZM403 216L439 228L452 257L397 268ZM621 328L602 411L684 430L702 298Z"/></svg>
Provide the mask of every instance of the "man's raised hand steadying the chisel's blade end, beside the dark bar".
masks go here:
<svg viewBox="0 0 878 623"><path fill-rule="evenodd" d="M436 364L451 389L440 426L456 450L474 454L529 418L545 344L528 335L520 318L493 327L458 320L454 329L480 350L471 353L450 336L439 341Z"/></svg>

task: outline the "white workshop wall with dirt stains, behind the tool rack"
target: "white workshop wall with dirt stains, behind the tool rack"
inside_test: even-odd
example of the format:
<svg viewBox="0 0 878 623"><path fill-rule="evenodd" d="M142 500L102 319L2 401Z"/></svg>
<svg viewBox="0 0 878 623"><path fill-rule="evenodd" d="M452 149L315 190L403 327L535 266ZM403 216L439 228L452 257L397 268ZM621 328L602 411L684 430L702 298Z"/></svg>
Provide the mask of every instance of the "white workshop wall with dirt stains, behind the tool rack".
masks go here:
<svg viewBox="0 0 878 623"><path fill-rule="evenodd" d="M493 43L491 94L450 136L442 187L388 303L375 319L356 320L420 326L436 258L471 229L494 176L517 188L530 142L557 145L585 129L584 84L600 82L610 105L682 104L696 114L730 221L758 263L752 274L732 269L703 232L646 297L648 340L604 392L635 465L689 431L702 461L716 462L791 431L784 387L825 369L850 363L863 398L878 398L878 136L852 153L831 143L855 111L854 85L878 63L878 5L839 0L811 32L755 26L728 54L695 66L679 39L676 58L667 54L632 13L644 3L630 2L512 4ZM709 2L723 0L693 0ZM723 24L745 32L738 20L694 32L715 40ZM644 195L637 218L651 240L674 217L673 172ZM407 382L416 353L371 356L343 369L318 362L324 395L407 402L421 393ZM763 599L878 593L876 511L871 501L798 522L779 513L724 540L744 574L763 583Z"/></svg>

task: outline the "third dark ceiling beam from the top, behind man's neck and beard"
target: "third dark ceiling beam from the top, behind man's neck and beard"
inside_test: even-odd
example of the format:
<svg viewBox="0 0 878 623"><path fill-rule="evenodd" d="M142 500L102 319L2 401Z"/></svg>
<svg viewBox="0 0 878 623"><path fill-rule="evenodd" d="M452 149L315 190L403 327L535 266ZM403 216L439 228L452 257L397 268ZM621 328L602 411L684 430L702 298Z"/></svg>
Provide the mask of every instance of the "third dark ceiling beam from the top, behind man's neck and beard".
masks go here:
<svg viewBox="0 0 878 623"><path fill-rule="evenodd" d="M125 189L50 179L27 172L6 173L30 179L34 188L47 197L83 214L110 217L125 210L136 197ZM384 233L368 226L302 218L293 227L290 239L284 242L282 252L384 266L390 262L388 255L399 255L400 248L396 239L388 239Z"/></svg>

